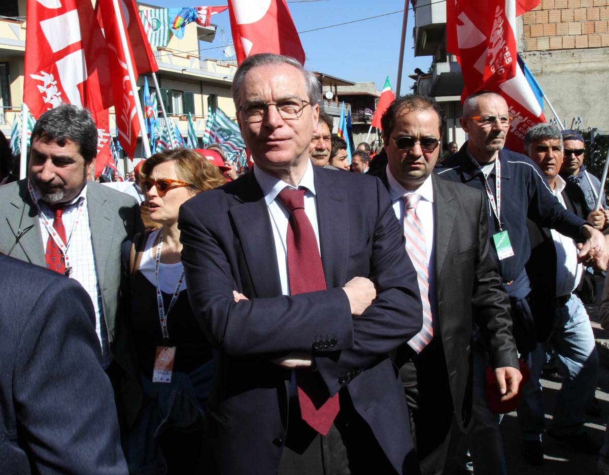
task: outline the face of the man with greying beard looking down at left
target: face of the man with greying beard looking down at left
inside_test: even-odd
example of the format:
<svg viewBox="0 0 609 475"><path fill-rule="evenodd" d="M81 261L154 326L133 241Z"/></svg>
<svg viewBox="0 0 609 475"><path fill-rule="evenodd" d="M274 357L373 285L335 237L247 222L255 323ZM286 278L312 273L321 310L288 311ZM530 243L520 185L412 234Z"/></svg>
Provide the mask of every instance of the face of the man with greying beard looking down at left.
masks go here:
<svg viewBox="0 0 609 475"><path fill-rule="evenodd" d="M95 160L85 163L76 142L66 139L60 146L57 141L37 138L32 142L27 177L40 199L66 203L80 193L94 165Z"/></svg>

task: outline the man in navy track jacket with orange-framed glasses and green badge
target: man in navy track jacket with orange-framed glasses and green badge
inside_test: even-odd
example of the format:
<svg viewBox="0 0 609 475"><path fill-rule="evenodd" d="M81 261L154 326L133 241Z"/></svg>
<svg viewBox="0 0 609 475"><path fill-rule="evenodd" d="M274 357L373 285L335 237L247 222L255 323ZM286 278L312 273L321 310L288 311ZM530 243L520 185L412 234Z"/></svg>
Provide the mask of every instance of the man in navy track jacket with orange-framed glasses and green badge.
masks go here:
<svg viewBox="0 0 609 475"><path fill-rule="evenodd" d="M580 242L580 261L599 269L607 268L607 250L600 231L560 205L530 158L504 148L511 121L507 103L499 94L471 94L460 119L469 139L435 171L442 178L477 188L487 197L487 239L499 259L499 275L512 306L513 334L521 357L526 359L537 347L535 323L526 300L530 292L524 268L530 256L527 217ZM474 419L467 442L474 470L505 474L500 417L488 408L484 390L488 348L479 338L474 339L473 355Z"/></svg>

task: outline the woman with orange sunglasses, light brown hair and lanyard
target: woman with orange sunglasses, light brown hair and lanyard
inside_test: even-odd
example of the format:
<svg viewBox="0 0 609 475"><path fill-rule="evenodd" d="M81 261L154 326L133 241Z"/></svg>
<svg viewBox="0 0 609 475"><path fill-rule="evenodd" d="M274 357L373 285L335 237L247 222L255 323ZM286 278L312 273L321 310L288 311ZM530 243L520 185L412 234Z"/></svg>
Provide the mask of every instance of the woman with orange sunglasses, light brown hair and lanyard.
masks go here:
<svg viewBox="0 0 609 475"><path fill-rule="evenodd" d="M146 160L140 180L150 220L160 228L123 249L131 286L123 290L129 301L117 347L129 350L121 359L132 376L121 391L129 425L125 456L136 473L213 473L203 428L212 349L188 302L178 211L225 178L199 153L174 149Z"/></svg>

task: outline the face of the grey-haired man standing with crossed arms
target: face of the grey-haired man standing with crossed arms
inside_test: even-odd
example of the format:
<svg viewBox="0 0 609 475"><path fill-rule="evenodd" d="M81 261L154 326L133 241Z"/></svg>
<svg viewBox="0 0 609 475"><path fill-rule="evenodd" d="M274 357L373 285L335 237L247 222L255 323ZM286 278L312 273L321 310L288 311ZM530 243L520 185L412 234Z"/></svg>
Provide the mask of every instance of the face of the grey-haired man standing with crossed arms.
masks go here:
<svg viewBox="0 0 609 475"><path fill-rule="evenodd" d="M246 102L275 103L290 97L309 100L305 77L298 69L287 64L256 66L245 74L236 106ZM272 172L309 160L318 116L317 104L306 105L301 116L292 120L281 118L271 105L262 122L248 124L242 112L238 113L238 122L256 166Z"/></svg>

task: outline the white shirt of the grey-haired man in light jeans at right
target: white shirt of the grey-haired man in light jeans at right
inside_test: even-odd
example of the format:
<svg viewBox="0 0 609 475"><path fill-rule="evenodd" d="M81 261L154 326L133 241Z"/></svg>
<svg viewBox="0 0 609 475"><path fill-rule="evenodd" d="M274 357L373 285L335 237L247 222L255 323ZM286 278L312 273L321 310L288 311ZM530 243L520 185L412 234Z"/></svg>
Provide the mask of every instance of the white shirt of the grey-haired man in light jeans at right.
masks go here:
<svg viewBox="0 0 609 475"><path fill-rule="evenodd" d="M562 195L566 182L560 175L556 175L554 180L555 186L552 194L566 209ZM553 229L551 233L556 249L556 297L562 297L571 294L576 289L577 283L582 278L583 265L577 262L577 247L573 239L563 236Z"/></svg>

